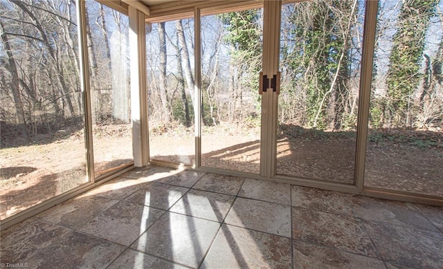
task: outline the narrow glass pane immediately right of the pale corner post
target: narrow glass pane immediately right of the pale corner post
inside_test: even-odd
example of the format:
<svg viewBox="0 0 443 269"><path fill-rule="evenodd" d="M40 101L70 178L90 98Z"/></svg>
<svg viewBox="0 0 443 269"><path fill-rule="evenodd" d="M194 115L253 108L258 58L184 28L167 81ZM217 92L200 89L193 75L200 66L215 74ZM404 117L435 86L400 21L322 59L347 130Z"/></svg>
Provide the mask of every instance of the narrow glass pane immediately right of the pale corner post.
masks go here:
<svg viewBox="0 0 443 269"><path fill-rule="evenodd" d="M192 165L195 163L194 19L147 27L150 157Z"/></svg>

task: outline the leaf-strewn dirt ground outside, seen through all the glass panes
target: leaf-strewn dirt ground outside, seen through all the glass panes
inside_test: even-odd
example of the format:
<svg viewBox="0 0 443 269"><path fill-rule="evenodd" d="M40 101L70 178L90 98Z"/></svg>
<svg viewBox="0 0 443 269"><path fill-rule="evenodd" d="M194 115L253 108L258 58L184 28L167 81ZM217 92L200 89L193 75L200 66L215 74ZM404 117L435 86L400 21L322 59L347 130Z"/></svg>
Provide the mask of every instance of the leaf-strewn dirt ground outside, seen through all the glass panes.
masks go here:
<svg viewBox="0 0 443 269"><path fill-rule="evenodd" d="M0 218L86 183L82 131L56 133L51 142L7 145L0 150ZM365 186L443 196L443 133L370 133ZM130 129L103 127L94 136L96 171L132 160ZM204 127L202 165L258 173L260 127ZM286 125L278 131L277 174L353 183L354 132L325 133ZM151 158L192 164L192 130L150 133Z"/></svg>

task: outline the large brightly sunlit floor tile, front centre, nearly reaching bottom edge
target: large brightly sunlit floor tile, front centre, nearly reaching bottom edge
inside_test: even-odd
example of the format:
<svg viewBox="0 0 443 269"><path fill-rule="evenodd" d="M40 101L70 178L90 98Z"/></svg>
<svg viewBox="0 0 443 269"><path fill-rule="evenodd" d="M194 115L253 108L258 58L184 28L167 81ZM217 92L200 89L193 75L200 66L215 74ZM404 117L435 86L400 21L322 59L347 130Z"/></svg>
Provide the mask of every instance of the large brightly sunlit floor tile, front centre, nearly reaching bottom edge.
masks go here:
<svg viewBox="0 0 443 269"><path fill-rule="evenodd" d="M208 251L219 223L167 212L132 248L197 268Z"/></svg>

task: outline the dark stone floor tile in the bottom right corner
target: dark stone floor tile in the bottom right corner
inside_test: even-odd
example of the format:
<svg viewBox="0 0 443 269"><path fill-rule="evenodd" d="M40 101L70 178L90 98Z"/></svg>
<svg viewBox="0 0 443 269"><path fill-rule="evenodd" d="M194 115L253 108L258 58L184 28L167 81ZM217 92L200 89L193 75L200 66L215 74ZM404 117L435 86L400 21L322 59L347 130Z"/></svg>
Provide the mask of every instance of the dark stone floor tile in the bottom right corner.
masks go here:
<svg viewBox="0 0 443 269"><path fill-rule="evenodd" d="M412 268L442 268L443 234L404 225L364 223L381 259Z"/></svg>

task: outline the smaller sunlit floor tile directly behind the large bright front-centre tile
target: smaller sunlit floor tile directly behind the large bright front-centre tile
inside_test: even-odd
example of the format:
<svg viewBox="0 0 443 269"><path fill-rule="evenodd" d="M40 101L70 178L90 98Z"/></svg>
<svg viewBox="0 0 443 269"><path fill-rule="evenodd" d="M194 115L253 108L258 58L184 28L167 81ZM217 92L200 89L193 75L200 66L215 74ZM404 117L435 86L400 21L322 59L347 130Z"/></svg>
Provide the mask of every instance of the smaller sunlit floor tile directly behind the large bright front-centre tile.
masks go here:
<svg viewBox="0 0 443 269"><path fill-rule="evenodd" d="M235 196L191 189L170 211L221 222L234 200Z"/></svg>

